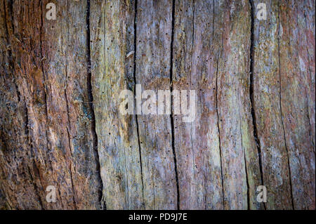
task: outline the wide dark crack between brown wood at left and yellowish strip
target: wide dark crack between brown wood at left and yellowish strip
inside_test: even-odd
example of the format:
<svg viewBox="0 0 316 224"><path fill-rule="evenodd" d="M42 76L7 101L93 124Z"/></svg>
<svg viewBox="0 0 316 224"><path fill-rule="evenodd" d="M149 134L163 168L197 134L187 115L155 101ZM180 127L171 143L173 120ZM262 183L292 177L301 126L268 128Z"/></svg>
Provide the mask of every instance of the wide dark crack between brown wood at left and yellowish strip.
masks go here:
<svg viewBox="0 0 316 224"><path fill-rule="evenodd" d="M100 171L100 158L98 153L98 135L96 133L96 114L94 112L93 107L93 93L92 93L92 84L91 84L91 46L90 46L90 0L86 2L86 27L87 27L87 34L86 34L86 46L87 46L87 88L88 88L88 104L91 110L91 133L93 138L93 151L94 157L96 161L96 170L98 173L98 182L99 182L99 192L98 192L98 199L100 202L101 209L107 209L105 199L103 197L103 180L101 178L101 171Z"/></svg>

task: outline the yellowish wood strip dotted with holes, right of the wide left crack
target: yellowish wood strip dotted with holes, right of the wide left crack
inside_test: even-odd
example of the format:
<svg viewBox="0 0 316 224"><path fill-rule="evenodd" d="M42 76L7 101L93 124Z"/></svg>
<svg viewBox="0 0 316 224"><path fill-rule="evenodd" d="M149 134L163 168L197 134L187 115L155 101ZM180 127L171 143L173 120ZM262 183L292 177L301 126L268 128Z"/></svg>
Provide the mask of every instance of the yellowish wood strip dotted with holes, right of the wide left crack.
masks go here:
<svg viewBox="0 0 316 224"><path fill-rule="evenodd" d="M96 133L107 209L142 209L143 183L136 117L119 112L124 89L134 88L134 4L91 1L91 73Z"/></svg>

